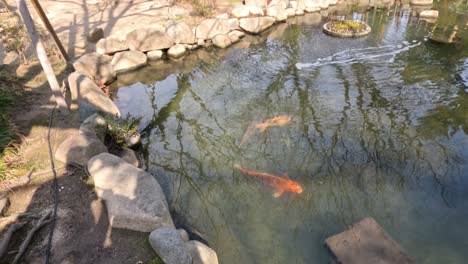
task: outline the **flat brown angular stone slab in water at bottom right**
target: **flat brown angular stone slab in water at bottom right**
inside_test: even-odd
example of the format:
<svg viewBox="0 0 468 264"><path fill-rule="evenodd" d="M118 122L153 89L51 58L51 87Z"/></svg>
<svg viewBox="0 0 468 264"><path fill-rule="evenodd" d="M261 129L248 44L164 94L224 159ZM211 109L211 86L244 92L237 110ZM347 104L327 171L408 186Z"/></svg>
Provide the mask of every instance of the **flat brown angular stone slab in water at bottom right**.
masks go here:
<svg viewBox="0 0 468 264"><path fill-rule="evenodd" d="M415 263L371 217L327 238L325 244L342 264Z"/></svg>

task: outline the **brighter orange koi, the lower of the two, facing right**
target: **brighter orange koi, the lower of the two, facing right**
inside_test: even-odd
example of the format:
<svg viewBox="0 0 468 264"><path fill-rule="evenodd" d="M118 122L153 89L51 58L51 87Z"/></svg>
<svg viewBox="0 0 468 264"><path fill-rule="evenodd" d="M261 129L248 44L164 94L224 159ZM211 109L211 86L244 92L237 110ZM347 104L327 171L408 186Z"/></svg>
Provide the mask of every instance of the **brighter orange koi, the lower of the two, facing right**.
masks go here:
<svg viewBox="0 0 468 264"><path fill-rule="evenodd" d="M291 193L302 193L302 187L299 185L299 183L285 179L279 176L275 176L272 174L264 173L264 172L255 172L255 171L250 171L248 169L242 168L240 165L235 164L234 168L239 170L240 172L253 176L253 177L258 177L259 179L263 180L273 188L275 188L275 192L273 193L273 197L280 197L283 195L284 192L291 192ZM284 176L288 177L288 175L285 173Z"/></svg>

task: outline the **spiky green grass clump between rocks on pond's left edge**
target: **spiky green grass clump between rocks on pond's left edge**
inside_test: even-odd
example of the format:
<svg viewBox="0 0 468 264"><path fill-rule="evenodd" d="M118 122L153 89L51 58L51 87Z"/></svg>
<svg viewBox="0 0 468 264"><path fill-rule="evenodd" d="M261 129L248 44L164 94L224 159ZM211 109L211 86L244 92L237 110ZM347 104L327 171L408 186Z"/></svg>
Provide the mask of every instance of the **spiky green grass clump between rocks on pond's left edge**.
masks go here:
<svg viewBox="0 0 468 264"><path fill-rule="evenodd" d="M111 116L105 116L104 119L107 122L107 136L110 140L119 147L127 147L127 140L138 134L138 127L142 117L134 117L128 113L122 119L116 120Z"/></svg>

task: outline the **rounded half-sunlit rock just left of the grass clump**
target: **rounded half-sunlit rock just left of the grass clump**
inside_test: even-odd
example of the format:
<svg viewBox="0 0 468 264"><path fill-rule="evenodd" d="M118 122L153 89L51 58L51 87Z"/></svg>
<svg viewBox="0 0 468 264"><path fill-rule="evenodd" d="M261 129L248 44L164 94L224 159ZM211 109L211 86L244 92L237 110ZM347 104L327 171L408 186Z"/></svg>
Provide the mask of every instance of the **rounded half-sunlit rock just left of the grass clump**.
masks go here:
<svg viewBox="0 0 468 264"><path fill-rule="evenodd" d="M67 138L55 151L55 159L66 164L86 166L92 157L107 152L95 134L77 134Z"/></svg>

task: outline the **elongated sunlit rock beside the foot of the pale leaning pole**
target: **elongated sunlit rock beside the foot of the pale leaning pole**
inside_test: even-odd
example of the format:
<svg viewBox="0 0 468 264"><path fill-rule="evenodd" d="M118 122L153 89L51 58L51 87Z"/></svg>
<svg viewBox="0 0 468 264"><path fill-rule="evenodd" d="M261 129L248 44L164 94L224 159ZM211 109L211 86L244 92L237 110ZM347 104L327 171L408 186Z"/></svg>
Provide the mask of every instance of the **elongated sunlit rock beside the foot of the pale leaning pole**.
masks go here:
<svg viewBox="0 0 468 264"><path fill-rule="evenodd" d="M67 96L66 99L72 109L78 108L77 106L81 102L85 102L106 114L120 116L120 111L114 102L85 75L78 72L71 73L68 76L68 84L70 86L70 97Z"/></svg>

